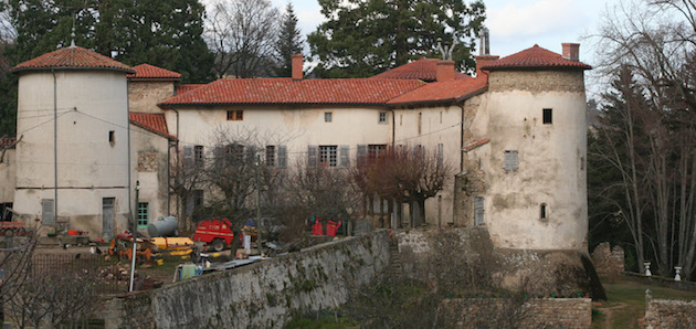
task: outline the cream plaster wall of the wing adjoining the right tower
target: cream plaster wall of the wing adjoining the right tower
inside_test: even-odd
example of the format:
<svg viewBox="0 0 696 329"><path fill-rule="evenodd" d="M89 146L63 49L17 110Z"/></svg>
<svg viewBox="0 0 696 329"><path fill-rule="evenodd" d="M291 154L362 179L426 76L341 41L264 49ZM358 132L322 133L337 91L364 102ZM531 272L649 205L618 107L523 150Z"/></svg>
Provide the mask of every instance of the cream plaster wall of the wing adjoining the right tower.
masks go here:
<svg viewBox="0 0 696 329"><path fill-rule="evenodd" d="M421 130L419 134L419 114ZM454 174L458 172L461 162L462 108L457 105L394 109L394 144L413 147L421 145L433 157L437 145L443 145L444 161L453 171L445 188L435 197L425 201L425 222L437 225L440 214L442 224L452 223ZM439 197L442 203L439 205ZM404 215L408 219L408 213Z"/></svg>

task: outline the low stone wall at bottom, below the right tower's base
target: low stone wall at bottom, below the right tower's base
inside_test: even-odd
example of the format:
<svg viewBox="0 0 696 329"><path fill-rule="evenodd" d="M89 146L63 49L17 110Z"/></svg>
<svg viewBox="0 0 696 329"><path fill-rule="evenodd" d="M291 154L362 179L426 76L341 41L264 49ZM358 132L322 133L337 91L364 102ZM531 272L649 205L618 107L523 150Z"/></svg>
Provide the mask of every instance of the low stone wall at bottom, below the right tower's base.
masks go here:
<svg viewBox="0 0 696 329"><path fill-rule="evenodd" d="M447 299L443 317L453 328L591 328L589 298Z"/></svg>

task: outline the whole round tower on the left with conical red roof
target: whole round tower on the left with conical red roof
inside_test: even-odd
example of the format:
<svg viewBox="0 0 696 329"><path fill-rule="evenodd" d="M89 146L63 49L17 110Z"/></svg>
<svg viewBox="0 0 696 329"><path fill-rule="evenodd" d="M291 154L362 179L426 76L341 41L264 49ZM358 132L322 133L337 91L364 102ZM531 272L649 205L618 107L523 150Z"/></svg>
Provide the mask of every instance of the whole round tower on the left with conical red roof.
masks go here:
<svg viewBox="0 0 696 329"><path fill-rule="evenodd" d="M129 213L128 87L134 71L70 46L21 63L14 211L43 227L110 237ZM57 187L57 188L56 188Z"/></svg>

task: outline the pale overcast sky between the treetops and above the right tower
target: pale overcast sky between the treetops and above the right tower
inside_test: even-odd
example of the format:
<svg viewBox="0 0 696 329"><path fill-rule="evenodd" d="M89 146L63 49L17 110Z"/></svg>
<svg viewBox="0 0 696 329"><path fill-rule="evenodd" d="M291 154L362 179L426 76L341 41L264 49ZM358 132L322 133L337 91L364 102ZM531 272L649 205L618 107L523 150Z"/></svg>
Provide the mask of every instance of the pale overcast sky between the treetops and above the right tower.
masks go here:
<svg viewBox="0 0 696 329"><path fill-rule="evenodd" d="M287 0L272 0L281 10ZM506 56L539 44L560 53L561 42L580 42L594 31L607 4L618 0L484 0L491 30L491 53ZM292 0L306 35L323 22L316 0ZM593 51L580 46L580 60L593 64Z"/></svg>

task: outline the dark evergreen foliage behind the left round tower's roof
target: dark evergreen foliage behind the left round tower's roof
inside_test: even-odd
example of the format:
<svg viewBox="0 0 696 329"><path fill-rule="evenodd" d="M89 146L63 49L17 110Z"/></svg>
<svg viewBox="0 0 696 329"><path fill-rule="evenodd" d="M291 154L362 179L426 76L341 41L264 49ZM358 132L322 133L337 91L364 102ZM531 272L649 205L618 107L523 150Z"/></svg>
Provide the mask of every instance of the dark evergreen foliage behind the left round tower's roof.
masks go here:
<svg viewBox="0 0 696 329"><path fill-rule="evenodd" d="M129 65L179 72L187 82L211 78L198 0L10 0L17 29L14 62L75 43Z"/></svg>

